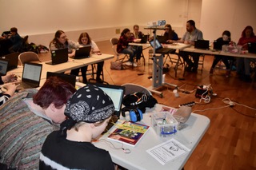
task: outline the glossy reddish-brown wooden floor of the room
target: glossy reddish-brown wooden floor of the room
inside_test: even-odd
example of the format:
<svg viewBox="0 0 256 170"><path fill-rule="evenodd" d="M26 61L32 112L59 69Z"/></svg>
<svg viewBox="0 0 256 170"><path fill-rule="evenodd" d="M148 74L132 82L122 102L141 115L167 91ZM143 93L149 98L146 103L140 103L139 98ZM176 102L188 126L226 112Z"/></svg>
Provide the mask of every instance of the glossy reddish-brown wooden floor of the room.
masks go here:
<svg viewBox="0 0 256 170"><path fill-rule="evenodd" d="M113 53L109 41L97 42L97 44L102 53ZM105 61L105 81L114 85L128 82L145 87L152 85L148 79L152 75L152 64L148 65L146 51L144 55L146 56L146 66L140 65L134 69L128 67L124 70L111 70L110 61ZM41 58L47 60L49 55L41 55ZM210 128L184 168L186 170L256 169L256 110L249 108L256 108L256 80L252 83L240 81L233 72L229 78L226 78L225 71L220 69L215 70L214 75L210 76L212 61L212 56L206 56L202 71L186 73L185 80L182 81L178 79L182 78L182 67L178 69L178 78L174 77L174 65L170 63L170 72L166 73L165 81L178 85L180 89L193 92L197 85L211 85L214 93L217 93L216 97L211 97L210 103L206 104L202 101L192 108L194 113L210 118ZM138 75L138 73L142 73L142 75ZM154 97L162 105L176 108L182 103L199 102L199 99L194 96L195 92L190 94L178 92L179 97L174 97L172 87L165 86L159 90L163 93L163 97L160 98L156 94ZM224 98L233 101L234 107L231 108L225 104L222 101ZM206 111L201 112L200 110Z"/></svg>

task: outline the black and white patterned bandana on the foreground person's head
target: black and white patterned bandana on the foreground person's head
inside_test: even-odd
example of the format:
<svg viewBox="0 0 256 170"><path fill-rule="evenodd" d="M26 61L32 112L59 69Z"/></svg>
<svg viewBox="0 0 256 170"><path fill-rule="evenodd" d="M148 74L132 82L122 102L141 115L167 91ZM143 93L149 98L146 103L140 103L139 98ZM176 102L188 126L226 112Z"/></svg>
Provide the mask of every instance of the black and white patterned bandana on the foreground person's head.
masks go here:
<svg viewBox="0 0 256 170"><path fill-rule="evenodd" d="M75 122L95 123L114 113L110 97L96 85L86 85L67 101L65 115Z"/></svg>

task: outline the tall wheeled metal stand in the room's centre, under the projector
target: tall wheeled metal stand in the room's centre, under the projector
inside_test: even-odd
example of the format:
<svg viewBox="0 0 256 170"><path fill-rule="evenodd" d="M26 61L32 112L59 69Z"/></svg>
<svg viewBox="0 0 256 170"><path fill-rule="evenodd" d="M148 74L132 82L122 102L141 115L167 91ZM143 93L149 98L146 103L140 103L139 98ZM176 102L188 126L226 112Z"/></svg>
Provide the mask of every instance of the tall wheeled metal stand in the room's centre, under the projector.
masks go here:
<svg viewBox="0 0 256 170"><path fill-rule="evenodd" d="M166 30L166 28L149 27L149 28L145 28L145 29L153 30L153 34L154 34L152 86L150 86L148 89L150 90L150 92L158 93L160 97L163 97L162 92L159 92L155 89L162 87L163 85L170 85L170 86L173 86L175 89L178 88L178 85L162 82L162 66L163 66L163 57L164 57L163 55L164 54L160 54L160 55L155 54L156 31L157 30Z"/></svg>

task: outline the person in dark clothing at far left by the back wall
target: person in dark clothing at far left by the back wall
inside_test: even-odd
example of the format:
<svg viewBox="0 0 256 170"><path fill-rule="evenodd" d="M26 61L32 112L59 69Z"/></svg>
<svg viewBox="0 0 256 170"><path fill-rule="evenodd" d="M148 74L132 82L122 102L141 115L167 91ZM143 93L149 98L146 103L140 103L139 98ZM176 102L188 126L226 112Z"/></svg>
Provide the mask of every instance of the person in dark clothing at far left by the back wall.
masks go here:
<svg viewBox="0 0 256 170"><path fill-rule="evenodd" d="M18 52L18 49L22 45L22 38L18 34L18 29L13 27L10 29L10 36L8 37L10 42L12 43L11 47L9 48L10 53Z"/></svg>

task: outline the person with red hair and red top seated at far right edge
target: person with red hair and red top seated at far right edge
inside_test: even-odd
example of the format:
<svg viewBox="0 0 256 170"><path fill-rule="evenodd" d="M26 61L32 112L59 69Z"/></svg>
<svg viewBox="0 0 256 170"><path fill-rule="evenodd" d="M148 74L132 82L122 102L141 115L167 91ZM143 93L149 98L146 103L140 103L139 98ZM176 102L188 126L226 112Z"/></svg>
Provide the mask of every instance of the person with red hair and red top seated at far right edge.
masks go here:
<svg viewBox="0 0 256 170"><path fill-rule="evenodd" d="M238 41L238 45L242 45L243 50L248 50L248 43L256 42L256 36L252 26L246 26L242 31L242 37ZM238 57L237 59L237 73L242 81L250 82L250 61L253 59Z"/></svg>

